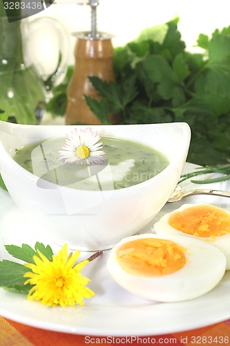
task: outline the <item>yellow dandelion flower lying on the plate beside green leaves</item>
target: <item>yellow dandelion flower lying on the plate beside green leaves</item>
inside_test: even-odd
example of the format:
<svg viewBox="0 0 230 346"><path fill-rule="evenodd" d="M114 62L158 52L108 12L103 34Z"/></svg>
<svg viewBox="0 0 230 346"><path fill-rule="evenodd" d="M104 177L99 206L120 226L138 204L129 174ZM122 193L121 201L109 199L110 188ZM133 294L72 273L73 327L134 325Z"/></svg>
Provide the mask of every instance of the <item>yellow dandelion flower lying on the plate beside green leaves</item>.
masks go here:
<svg viewBox="0 0 230 346"><path fill-rule="evenodd" d="M37 252L40 257L37 255L33 257L35 264L24 264L26 268L31 269L23 275L28 277L25 284L32 285L28 293L29 300L40 300L41 304L50 307L57 305L66 307L76 303L83 305L84 298L93 297L93 291L86 287L90 280L81 274L82 268L89 261L84 260L75 264L79 251L68 256L68 248L65 244L57 256L52 255L52 262L40 251Z"/></svg>

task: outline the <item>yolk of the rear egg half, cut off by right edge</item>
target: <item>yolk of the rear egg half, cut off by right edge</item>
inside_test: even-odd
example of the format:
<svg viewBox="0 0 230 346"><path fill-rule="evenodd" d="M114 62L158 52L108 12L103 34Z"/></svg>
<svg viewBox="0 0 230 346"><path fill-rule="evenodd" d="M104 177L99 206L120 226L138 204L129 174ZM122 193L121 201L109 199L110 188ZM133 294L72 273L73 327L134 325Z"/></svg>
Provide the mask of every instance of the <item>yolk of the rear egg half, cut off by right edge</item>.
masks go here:
<svg viewBox="0 0 230 346"><path fill-rule="evenodd" d="M220 237L230 232L230 215L215 206L192 206L172 214L169 225L196 237Z"/></svg>

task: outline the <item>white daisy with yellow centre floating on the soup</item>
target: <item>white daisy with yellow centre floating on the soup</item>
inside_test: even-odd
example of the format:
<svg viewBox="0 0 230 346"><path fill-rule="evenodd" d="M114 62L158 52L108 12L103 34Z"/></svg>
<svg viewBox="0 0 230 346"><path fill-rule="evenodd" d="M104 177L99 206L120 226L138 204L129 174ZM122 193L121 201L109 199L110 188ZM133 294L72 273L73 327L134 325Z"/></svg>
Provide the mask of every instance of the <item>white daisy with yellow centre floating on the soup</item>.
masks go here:
<svg viewBox="0 0 230 346"><path fill-rule="evenodd" d="M91 127L86 129L74 129L67 135L66 143L60 150L59 160L65 163L76 163L80 165L90 165L91 163L102 163L106 159L101 155L102 142L97 143L101 139L97 131L93 132Z"/></svg>

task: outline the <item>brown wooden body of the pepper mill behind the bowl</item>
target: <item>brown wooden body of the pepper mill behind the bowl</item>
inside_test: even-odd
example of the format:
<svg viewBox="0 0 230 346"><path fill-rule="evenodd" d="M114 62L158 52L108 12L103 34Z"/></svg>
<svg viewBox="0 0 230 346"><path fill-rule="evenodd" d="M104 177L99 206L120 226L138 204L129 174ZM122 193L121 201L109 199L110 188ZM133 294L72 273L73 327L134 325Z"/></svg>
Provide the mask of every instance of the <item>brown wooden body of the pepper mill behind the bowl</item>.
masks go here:
<svg viewBox="0 0 230 346"><path fill-rule="evenodd" d="M97 91L88 76L97 76L105 81L114 80L111 38L111 35L102 33L95 37L90 33L77 34L75 68L66 91L68 97L66 125L76 122L88 125L101 124L86 104L84 94L97 98ZM115 116L111 115L111 123L114 122Z"/></svg>

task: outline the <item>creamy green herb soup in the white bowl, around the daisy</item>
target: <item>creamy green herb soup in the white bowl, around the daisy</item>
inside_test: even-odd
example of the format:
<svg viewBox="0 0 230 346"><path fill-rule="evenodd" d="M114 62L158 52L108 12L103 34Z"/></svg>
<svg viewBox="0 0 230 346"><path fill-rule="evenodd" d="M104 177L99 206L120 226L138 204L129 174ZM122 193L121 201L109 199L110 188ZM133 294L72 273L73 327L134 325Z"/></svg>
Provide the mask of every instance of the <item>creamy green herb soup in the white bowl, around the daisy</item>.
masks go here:
<svg viewBox="0 0 230 346"><path fill-rule="evenodd" d="M157 150L131 140L103 137L106 154L103 163L77 165L59 160L65 138L52 138L15 151L14 159L23 168L39 176L37 185L51 188L48 181L79 190L117 190L142 183L169 165Z"/></svg>

